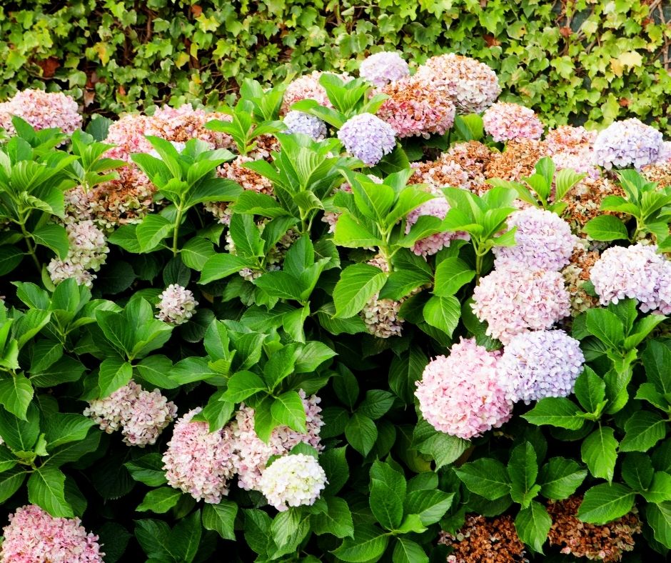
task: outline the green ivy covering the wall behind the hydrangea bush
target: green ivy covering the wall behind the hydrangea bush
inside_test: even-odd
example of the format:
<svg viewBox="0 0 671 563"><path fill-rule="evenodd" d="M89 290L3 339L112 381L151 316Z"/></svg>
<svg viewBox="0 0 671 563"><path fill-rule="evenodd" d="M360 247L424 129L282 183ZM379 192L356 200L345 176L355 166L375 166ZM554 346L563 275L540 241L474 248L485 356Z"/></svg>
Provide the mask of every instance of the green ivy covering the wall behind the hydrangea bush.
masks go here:
<svg viewBox="0 0 671 563"><path fill-rule="evenodd" d="M0 30L0 99L46 84L89 114L216 106L241 77L354 71L398 49L486 61L503 99L550 126L638 116L671 133L668 0L21 0Z"/></svg>

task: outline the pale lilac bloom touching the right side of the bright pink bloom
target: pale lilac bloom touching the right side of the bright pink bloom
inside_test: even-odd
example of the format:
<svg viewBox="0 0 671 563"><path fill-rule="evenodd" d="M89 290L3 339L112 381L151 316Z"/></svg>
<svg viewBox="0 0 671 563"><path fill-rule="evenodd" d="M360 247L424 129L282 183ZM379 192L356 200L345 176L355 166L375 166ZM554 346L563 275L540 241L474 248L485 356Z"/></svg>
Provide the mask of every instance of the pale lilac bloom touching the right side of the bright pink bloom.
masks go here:
<svg viewBox="0 0 671 563"><path fill-rule="evenodd" d="M562 330L517 334L498 362L499 379L513 401L568 397L582 373L585 357L580 342Z"/></svg>

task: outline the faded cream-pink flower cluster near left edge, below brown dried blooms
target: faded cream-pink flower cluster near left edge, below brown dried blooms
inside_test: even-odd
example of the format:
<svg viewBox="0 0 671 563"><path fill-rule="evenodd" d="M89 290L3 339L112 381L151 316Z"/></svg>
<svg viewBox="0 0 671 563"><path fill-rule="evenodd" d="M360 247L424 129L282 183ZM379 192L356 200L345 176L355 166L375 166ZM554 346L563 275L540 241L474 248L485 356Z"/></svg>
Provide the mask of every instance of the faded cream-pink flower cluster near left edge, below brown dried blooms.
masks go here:
<svg viewBox="0 0 671 563"><path fill-rule="evenodd" d="M91 287L96 278L91 271L99 271L105 264L109 246L103 231L93 221L86 219L70 222L65 226L70 247L66 259L53 258L47 266L54 284L74 278L78 284Z"/></svg>

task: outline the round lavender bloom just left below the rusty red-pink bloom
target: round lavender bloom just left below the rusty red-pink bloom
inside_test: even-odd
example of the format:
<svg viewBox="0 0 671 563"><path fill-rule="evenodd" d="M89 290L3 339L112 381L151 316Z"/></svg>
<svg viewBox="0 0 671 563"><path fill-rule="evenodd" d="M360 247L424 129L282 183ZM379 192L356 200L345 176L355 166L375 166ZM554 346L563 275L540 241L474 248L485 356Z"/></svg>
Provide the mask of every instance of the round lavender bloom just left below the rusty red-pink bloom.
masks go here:
<svg viewBox="0 0 671 563"><path fill-rule="evenodd" d="M350 117L340 127L338 139L366 166L375 166L396 146L392 126L373 114Z"/></svg>

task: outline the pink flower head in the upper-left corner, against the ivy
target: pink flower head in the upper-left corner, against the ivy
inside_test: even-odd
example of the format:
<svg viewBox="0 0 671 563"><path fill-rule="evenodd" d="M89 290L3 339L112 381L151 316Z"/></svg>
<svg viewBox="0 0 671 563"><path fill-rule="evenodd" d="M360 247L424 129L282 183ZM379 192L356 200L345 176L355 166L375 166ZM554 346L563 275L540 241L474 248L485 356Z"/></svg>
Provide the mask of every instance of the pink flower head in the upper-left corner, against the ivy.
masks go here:
<svg viewBox="0 0 671 563"><path fill-rule="evenodd" d="M24 90L0 104L0 127L8 134L15 134L11 116L19 116L34 129L58 127L66 134L81 127L79 105L62 92Z"/></svg>

